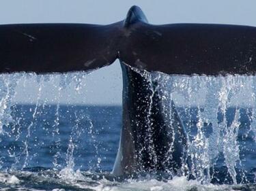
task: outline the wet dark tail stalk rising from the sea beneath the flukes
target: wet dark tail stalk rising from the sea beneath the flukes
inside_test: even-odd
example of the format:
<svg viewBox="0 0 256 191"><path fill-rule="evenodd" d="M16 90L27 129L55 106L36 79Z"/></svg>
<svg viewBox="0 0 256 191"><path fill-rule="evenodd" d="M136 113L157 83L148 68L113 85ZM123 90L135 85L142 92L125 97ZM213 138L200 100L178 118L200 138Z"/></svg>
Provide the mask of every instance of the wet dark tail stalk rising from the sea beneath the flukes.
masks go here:
<svg viewBox="0 0 256 191"><path fill-rule="evenodd" d="M180 173L186 162L186 133L173 101L162 99L157 80L121 65L123 126L113 173Z"/></svg>

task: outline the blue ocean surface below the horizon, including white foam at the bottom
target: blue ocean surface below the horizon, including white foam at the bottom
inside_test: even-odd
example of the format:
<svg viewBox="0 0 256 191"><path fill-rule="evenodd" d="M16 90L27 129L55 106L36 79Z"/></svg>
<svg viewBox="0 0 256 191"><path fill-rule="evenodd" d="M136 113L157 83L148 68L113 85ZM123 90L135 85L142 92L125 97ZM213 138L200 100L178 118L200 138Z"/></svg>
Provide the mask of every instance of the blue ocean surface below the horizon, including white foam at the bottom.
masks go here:
<svg viewBox="0 0 256 191"><path fill-rule="evenodd" d="M214 132L212 124L203 124L198 130L198 107L181 107L178 110L189 132L191 145L195 144L195 137L200 133L208 139ZM212 164L205 165L207 160L201 159L206 152L194 147L197 151L193 152L201 154L201 161L198 160L196 164L203 169L197 179L175 176L171 179L158 175L124 179L111 175L122 127L122 107L13 105L10 115L1 119L0 188L55 191L256 190L252 109L228 108L225 113L228 128L233 127L237 111L240 114L238 126L231 131L229 141L224 140L228 147L224 144L224 149L220 149ZM218 123L221 124L223 119L219 113ZM234 132L236 130L237 134ZM235 150L232 150L234 146ZM214 153L212 148L218 150L217 145L208 146L208 154ZM231 148L231 152L225 148ZM238 158L229 158L227 153L235 154ZM197 167L197 170L200 168Z"/></svg>

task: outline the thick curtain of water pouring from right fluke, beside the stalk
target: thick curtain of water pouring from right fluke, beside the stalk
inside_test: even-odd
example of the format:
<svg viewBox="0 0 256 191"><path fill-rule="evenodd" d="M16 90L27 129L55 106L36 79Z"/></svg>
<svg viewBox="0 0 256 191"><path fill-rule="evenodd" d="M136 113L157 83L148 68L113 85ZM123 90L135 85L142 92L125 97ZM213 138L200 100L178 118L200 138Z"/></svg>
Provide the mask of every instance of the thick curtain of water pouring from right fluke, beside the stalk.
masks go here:
<svg viewBox="0 0 256 191"><path fill-rule="evenodd" d="M169 76L169 92L173 94L172 99L176 106L185 112L184 122L188 122L191 170L195 178L203 184L209 184L214 179L212 171L214 172L214 168L218 166L217 161L222 157L227 167L227 178L231 177L230 182L238 183L238 169L242 168L242 147L238 143L240 107L253 107L251 131L255 132L255 81L252 78L255 80L253 76L239 75ZM196 115L191 113L192 107L196 109ZM230 109L234 110L233 114ZM243 177L244 170L240 173L240 179L246 179Z"/></svg>

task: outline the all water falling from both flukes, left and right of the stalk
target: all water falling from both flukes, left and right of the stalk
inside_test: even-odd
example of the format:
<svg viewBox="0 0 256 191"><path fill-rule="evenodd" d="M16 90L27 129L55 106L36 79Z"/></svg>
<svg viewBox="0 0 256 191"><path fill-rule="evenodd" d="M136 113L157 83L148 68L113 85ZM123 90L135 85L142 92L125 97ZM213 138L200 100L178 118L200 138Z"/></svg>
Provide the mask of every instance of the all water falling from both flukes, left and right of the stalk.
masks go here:
<svg viewBox="0 0 256 191"><path fill-rule="evenodd" d="M152 99L159 94L162 113L167 122L170 121L168 114L171 113L171 101L173 101L186 128L187 152L191 166L188 167L184 161L184 171L189 169L189 175L205 185L219 182L243 184L249 182L248 179L252 179L250 176L253 176L255 169L249 167L246 160L254 161L256 152L242 141L253 139L251 145L256 143L255 76L188 77L139 72L145 78L152 93L145 119L148 126L145 141L151 145L150 160L157 162L150 116L154 107ZM59 171L59 177L65 179L70 178L70 175L72 179L81 175L79 169L90 171L104 169L104 162L110 156L109 145L104 145L102 140L98 140L100 133L106 131L100 121L100 115L94 119L93 116L96 114L87 107L81 109L68 103L69 105L64 108L61 105L63 100L61 95L70 86L73 87L69 90L73 95L81 94L81 90L86 88L86 76L83 73L48 77L42 75L36 77L35 74L0 75L0 143L4 141L3 138L12 140L12 144L3 144L0 150L0 168L3 169L6 164L5 166L12 170L27 169L34 162L35 167L45 164L47 168ZM15 86L23 81L21 85L26 87L31 80L38 83L35 105L27 105L26 111L18 110L18 106L12 102ZM48 101L44 100L44 91L47 89L45 87L49 86L49 84L45 85L46 83L53 85L55 104L48 104ZM86 97L86 94L84 96ZM14 111L20 111L20 116L16 117ZM26 115L29 116L29 120L25 119ZM51 121L44 122L44 116L51 116ZM244 118L249 119L248 124L244 124ZM68 136L65 137L64 134ZM119 132L116 134L119 135ZM172 140L177 141L174 134L174 131L170 133L173 135ZM50 137L47 139L48 143L40 141L42 140L40 136ZM109 139L111 144L112 135L104 136L102 139ZM240 137L243 137L242 141ZM20 146L20 143L23 145ZM36 152L38 148L42 148L40 152L48 156L47 161L44 161L45 158L41 160L39 151ZM78 151L82 152L77 153ZM249 151L251 155L243 156L244 151ZM172 157L172 152L173 143L170 143L167 160ZM81 158L85 158L86 167L81 163L78 164L77 161ZM183 175L188 176L187 173Z"/></svg>

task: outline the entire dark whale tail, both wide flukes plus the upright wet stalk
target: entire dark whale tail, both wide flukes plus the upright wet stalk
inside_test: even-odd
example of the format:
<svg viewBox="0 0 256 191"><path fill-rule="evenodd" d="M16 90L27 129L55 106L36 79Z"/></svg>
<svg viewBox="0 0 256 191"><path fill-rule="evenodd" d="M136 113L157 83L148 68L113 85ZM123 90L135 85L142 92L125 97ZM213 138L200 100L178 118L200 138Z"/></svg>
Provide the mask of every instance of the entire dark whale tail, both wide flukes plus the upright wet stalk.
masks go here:
<svg viewBox="0 0 256 191"><path fill-rule="evenodd" d="M255 75L255 55L255 27L154 25L137 6L125 20L107 25L0 25L0 73L90 71L120 60L123 124L115 175L179 173L186 160L186 133L177 109L172 100L162 99L162 84L147 80L148 72Z"/></svg>

